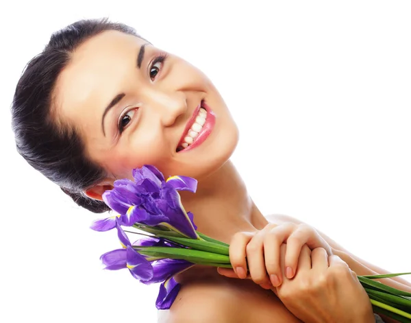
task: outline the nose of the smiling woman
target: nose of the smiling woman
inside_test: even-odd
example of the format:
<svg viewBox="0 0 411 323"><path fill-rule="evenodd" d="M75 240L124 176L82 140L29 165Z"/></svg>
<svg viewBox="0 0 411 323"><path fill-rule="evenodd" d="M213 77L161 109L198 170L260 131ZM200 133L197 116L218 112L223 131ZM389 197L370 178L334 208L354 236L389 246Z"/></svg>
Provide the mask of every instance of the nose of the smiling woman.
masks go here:
<svg viewBox="0 0 411 323"><path fill-rule="evenodd" d="M182 92L176 92L172 95L155 93L153 106L153 108L158 110L162 125L164 125L164 127L169 127L176 123L180 116L186 113L186 95Z"/></svg>

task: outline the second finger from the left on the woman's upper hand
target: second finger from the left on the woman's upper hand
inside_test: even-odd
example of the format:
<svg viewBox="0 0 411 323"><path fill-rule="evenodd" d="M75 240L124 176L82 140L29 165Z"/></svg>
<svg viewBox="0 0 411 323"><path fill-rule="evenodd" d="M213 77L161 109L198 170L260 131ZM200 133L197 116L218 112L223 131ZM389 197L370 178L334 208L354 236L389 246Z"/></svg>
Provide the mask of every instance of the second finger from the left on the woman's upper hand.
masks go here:
<svg viewBox="0 0 411 323"><path fill-rule="evenodd" d="M258 232L245 248L249 274L258 285L270 284L264 262L264 231Z"/></svg>

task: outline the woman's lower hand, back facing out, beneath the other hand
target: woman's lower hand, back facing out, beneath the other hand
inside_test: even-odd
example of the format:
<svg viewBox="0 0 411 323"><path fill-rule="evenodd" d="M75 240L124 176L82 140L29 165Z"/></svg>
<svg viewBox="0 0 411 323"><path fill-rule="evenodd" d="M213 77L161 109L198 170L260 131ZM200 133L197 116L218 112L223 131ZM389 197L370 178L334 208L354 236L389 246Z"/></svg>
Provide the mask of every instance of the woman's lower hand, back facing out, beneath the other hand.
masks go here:
<svg viewBox="0 0 411 323"><path fill-rule="evenodd" d="M280 248L282 267L287 248ZM303 246L295 277L284 277L282 285L273 291L303 322L375 322L369 296L356 273L338 256L328 256L323 248L311 251Z"/></svg>

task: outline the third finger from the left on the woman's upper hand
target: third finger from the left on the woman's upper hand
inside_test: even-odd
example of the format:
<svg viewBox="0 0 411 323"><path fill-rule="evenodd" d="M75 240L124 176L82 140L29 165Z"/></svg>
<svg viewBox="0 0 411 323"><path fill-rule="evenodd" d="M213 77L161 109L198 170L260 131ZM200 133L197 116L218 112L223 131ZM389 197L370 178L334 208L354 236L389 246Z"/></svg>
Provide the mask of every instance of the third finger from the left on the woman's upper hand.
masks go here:
<svg viewBox="0 0 411 323"><path fill-rule="evenodd" d="M266 272L269 274L271 284L277 287L282 283L282 271L279 265L279 248L288 235L295 228L293 224L277 226L266 232L264 237L264 261Z"/></svg>

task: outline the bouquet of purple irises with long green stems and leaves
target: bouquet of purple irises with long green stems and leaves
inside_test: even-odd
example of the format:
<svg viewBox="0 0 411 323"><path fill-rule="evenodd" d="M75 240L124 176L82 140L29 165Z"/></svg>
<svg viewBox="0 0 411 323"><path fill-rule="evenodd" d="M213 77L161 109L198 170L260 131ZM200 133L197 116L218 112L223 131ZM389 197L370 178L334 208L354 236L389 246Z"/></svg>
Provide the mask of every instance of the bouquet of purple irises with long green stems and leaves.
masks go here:
<svg viewBox="0 0 411 323"><path fill-rule="evenodd" d="M104 202L118 214L97 219L91 228L116 228L118 232L122 248L101 255L105 269L128 269L141 283L161 283L155 305L169 309L179 291L173 277L193 265L232 268L229 245L197 232L194 216L182 205L177 191L195 193L197 180L186 176L165 180L151 165L134 169L133 176L134 181L116 180L114 189L103 194ZM142 235L142 239L131 243L122 226L138 229L132 233ZM373 280L403 274L410 273L358 276L358 280L375 313L411 322L411 293Z"/></svg>

